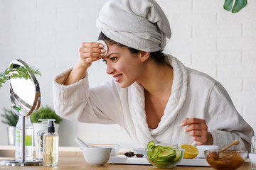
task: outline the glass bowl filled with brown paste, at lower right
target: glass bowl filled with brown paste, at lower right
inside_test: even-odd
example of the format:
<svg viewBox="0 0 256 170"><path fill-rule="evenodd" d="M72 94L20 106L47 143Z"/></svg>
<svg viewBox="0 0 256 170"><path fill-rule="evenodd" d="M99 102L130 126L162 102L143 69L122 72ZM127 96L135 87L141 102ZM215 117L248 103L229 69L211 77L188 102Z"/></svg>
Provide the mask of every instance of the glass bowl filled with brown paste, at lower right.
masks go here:
<svg viewBox="0 0 256 170"><path fill-rule="evenodd" d="M220 149L205 150L206 161L214 169L235 170L238 169L247 159L247 150L225 150Z"/></svg>

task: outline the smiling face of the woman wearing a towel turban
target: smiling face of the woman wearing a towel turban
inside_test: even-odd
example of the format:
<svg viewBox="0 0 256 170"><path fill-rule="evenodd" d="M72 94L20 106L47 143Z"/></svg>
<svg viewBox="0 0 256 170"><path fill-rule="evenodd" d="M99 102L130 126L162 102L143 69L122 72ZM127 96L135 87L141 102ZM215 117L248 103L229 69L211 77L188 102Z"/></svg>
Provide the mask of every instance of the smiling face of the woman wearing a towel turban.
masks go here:
<svg viewBox="0 0 256 170"><path fill-rule="evenodd" d="M132 54L127 47L107 44L107 55L103 57L107 64L107 74L111 74L120 87L131 86L142 76L143 62L141 53Z"/></svg>

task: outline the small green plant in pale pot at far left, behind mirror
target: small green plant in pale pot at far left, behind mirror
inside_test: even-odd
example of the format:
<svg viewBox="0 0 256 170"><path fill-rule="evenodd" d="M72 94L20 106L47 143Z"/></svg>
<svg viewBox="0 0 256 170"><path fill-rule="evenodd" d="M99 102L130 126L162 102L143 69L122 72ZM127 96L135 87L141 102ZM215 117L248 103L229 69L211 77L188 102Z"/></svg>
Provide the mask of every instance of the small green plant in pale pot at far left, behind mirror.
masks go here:
<svg viewBox="0 0 256 170"><path fill-rule="evenodd" d="M6 108L4 108L3 111L4 113L1 114L1 117L3 117L4 120L1 120L1 122L9 125L7 126L8 145L15 145L15 129L16 124L18 123L18 115Z"/></svg>

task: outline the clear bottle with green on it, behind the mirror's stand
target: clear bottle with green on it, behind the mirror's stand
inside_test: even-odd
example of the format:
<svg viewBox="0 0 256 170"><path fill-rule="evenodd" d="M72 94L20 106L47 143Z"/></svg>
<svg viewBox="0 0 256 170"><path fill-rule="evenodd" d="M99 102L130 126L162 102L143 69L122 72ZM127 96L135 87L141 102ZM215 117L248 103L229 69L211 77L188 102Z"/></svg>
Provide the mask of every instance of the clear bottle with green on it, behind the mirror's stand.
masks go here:
<svg viewBox="0 0 256 170"><path fill-rule="evenodd" d="M16 139L15 139L15 159L22 159L22 121L23 117L19 116L18 123L16 125ZM30 117L25 117L25 160L33 160L33 125L31 123Z"/></svg>

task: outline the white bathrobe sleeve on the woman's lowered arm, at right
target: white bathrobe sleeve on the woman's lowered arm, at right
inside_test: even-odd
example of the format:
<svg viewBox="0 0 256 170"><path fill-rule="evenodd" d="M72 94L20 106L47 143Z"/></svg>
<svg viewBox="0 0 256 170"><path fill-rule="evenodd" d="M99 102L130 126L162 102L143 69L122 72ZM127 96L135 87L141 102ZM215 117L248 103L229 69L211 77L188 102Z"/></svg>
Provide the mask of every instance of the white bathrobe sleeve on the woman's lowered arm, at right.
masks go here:
<svg viewBox="0 0 256 170"><path fill-rule="evenodd" d="M206 120L208 131L213 136L213 145L223 148L239 140L240 144L235 149L246 148L250 151L253 130L235 110L228 92L220 83L213 86L206 106Z"/></svg>

